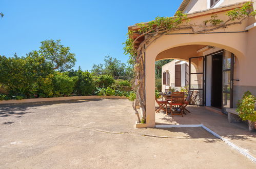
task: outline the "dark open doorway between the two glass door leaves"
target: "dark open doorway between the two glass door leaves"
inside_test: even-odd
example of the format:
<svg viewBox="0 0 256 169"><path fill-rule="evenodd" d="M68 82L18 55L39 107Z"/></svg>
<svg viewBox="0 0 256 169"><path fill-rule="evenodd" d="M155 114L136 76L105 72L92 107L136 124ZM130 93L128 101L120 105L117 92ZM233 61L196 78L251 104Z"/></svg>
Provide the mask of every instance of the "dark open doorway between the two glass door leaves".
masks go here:
<svg viewBox="0 0 256 169"><path fill-rule="evenodd" d="M211 106L222 108L222 59L223 52L212 55Z"/></svg>

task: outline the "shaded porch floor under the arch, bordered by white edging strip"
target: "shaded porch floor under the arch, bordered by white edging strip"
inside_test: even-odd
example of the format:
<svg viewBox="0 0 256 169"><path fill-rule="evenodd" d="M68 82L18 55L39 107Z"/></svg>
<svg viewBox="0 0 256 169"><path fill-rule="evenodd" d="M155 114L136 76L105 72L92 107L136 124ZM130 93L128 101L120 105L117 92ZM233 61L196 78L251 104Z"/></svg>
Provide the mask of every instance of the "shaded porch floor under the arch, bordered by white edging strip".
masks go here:
<svg viewBox="0 0 256 169"><path fill-rule="evenodd" d="M249 154L256 157L256 132L248 131L246 123L228 123L227 115L218 114L205 109L205 107L191 106L187 108L191 113L184 117L179 115L166 115L165 112L156 114L157 124L204 124L213 132L232 143L240 146Z"/></svg>

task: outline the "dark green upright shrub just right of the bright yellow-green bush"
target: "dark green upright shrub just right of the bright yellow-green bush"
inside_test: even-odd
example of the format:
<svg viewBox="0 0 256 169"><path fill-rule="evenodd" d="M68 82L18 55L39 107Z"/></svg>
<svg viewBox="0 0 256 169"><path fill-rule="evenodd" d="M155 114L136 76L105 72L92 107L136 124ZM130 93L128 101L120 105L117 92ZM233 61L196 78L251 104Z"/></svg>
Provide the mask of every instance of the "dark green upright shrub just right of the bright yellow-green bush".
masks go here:
<svg viewBox="0 0 256 169"><path fill-rule="evenodd" d="M78 95L92 94L95 90L92 75L89 72L83 72L79 69L77 71L77 81L74 90Z"/></svg>

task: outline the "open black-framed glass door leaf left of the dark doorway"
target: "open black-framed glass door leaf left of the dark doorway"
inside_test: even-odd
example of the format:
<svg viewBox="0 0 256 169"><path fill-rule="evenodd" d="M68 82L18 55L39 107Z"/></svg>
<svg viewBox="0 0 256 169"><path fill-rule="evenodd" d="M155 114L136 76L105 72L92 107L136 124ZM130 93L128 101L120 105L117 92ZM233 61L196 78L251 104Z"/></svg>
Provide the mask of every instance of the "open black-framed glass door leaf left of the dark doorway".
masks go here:
<svg viewBox="0 0 256 169"><path fill-rule="evenodd" d="M191 103L192 105L204 105L204 71L205 58L191 57L189 58L189 90L193 91Z"/></svg>

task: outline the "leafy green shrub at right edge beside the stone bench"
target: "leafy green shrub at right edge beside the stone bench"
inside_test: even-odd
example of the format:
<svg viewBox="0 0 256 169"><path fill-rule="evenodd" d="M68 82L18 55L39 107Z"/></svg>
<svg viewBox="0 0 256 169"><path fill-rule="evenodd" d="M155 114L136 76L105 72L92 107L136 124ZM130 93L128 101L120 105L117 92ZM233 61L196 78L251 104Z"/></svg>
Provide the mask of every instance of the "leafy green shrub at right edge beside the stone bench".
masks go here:
<svg viewBox="0 0 256 169"><path fill-rule="evenodd" d="M238 101L237 112L239 117L243 120L256 121L255 100L256 97L251 92L247 91L244 93L242 100Z"/></svg>

